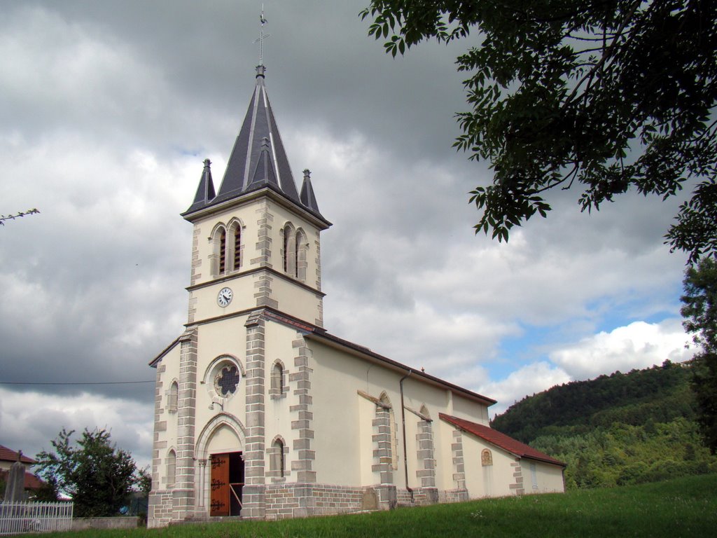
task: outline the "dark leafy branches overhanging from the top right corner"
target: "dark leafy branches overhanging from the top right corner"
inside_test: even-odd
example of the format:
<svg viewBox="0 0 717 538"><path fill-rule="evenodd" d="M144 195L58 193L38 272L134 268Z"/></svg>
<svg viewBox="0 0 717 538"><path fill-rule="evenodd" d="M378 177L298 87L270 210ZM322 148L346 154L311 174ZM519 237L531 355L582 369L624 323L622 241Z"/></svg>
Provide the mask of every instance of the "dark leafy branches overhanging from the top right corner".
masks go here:
<svg viewBox="0 0 717 538"><path fill-rule="evenodd" d="M471 193L476 232L507 241L554 189L581 189L589 211L693 179L666 242L690 262L717 253L717 2L373 0L361 16L394 56L476 34L454 144L493 169Z"/></svg>

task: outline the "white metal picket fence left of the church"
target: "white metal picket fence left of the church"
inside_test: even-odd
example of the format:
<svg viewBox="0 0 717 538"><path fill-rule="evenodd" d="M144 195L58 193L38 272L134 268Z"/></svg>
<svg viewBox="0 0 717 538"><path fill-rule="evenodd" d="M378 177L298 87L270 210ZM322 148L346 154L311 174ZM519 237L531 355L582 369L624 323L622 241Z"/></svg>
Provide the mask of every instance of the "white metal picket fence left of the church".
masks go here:
<svg viewBox="0 0 717 538"><path fill-rule="evenodd" d="M0 503L0 536L23 532L69 531L72 502Z"/></svg>

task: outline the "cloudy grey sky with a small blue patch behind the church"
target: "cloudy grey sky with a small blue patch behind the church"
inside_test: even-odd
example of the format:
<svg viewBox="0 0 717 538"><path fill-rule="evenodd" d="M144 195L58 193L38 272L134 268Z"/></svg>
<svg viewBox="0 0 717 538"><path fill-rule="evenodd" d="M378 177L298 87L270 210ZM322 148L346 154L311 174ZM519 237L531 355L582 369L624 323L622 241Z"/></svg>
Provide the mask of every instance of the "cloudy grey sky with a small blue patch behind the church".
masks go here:
<svg viewBox="0 0 717 538"><path fill-rule="evenodd" d="M680 361L680 199L581 214L558 192L508 244L474 235L485 164L450 47L391 59L366 0L265 1L267 90L321 212L326 328L499 400ZM186 321L191 204L220 179L255 84L260 2L0 3L0 444L108 428L151 456L154 370ZM218 185L217 185L218 187ZM149 381L149 382L147 382ZM95 384L80 384L80 383ZM108 382L145 382L98 384ZM11 384L13 383L13 384ZM32 384L18 384L32 383Z"/></svg>

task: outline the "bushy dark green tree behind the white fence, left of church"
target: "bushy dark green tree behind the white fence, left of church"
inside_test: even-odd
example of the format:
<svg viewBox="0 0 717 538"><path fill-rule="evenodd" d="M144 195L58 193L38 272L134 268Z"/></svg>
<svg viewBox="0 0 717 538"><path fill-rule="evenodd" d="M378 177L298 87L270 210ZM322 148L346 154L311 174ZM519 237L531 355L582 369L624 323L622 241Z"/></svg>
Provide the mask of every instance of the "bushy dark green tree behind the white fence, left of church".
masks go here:
<svg viewBox="0 0 717 538"><path fill-rule="evenodd" d="M72 433L63 428L51 441L54 452L37 455L39 476L72 497L76 516L118 514L140 478L135 462L110 443L106 430L85 429L75 445L70 443Z"/></svg>

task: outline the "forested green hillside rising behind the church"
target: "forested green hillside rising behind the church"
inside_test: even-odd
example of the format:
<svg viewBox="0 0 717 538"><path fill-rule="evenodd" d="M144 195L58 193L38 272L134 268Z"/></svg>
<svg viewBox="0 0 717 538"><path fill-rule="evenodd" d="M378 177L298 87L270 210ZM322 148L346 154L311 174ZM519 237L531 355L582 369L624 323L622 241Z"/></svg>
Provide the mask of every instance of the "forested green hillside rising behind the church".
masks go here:
<svg viewBox="0 0 717 538"><path fill-rule="evenodd" d="M597 487L717 472L695 424L690 365L600 376L526 397L496 430L568 463L566 486Z"/></svg>

